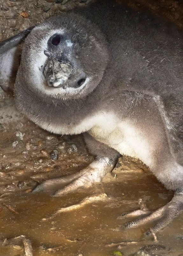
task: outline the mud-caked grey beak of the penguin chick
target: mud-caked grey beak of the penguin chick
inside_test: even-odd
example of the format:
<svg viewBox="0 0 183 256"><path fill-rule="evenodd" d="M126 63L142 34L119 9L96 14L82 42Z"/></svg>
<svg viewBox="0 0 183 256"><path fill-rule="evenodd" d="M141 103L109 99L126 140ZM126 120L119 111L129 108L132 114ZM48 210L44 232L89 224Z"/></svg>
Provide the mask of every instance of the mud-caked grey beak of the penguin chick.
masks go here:
<svg viewBox="0 0 183 256"><path fill-rule="evenodd" d="M49 86L66 88L65 82L72 73L72 66L69 63L49 58L44 70L46 82Z"/></svg>

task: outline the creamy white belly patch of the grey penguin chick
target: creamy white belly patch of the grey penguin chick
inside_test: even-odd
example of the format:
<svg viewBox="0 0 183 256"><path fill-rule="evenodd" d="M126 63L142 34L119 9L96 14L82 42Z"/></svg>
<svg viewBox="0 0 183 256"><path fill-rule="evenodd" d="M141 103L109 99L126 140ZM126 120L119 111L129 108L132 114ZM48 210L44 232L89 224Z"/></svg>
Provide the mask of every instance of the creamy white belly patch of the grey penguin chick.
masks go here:
<svg viewBox="0 0 183 256"><path fill-rule="evenodd" d="M89 134L114 148L120 154L139 158L151 167L153 148L130 119L118 120L114 115L104 115Z"/></svg>

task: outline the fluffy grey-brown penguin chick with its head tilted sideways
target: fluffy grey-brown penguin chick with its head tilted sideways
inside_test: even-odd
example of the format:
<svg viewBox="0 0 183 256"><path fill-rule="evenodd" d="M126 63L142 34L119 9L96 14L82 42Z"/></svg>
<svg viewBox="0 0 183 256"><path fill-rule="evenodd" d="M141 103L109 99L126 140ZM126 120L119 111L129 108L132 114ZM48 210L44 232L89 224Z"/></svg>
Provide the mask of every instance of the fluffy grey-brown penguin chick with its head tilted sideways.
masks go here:
<svg viewBox="0 0 183 256"><path fill-rule="evenodd" d="M159 231L183 209L182 32L109 1L83 10L32 29L14 94L17 108L43 129L83 133L96 158L34 191L63 181L69 184L54 196L86 188L112 171L119 154L136 157L175 194L126 227L159 219L151 229Z"/></svg>

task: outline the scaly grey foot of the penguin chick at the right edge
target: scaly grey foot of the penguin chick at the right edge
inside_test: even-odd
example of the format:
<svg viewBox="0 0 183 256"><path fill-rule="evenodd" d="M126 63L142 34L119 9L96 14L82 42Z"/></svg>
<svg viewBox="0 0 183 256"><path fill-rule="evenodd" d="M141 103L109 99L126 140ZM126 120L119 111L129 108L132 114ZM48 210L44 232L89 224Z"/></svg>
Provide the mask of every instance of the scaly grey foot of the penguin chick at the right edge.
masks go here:
<svg viewBox="0 0 183 256"><path fill-rule="evenodd" d="M149 221L158 221L157 224L146 232L146 235L151 233L156 233L164 229L177 215L183 210L183 189L177 189L174 193L172 200L167 203L165 206L159 208L158 210L152 212L150 215L143 218L133 220L124 224L124 228L136 228L142 224L146 224ZM128 214L123 214L122 217L134 216L134 213L137 211L132 211ZM138 210L139 216L146 215L148 210ZM141 214L142 213L142 214ZM121 217L120 217L121 218Z"/></svg>

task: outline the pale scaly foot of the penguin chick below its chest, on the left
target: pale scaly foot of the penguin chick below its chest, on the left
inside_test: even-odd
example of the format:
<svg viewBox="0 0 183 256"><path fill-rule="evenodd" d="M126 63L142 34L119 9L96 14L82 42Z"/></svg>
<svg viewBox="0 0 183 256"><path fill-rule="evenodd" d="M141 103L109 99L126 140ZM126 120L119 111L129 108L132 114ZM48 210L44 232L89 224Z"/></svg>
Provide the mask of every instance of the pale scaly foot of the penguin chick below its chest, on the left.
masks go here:
<svg viewBox="0 0 183 256"><path fill-rule="evenodd" d="M53 196L62 196L70 192L76 191L78 188L88 188L97 182L101 182L102 178L112 171L116 164L116 158L97 156L95 160L86 168L76 174L63 176L57 179L51 179L39 184L32 192L43 191L50 185L69 183L64 188L56 191Z"/></svg>

